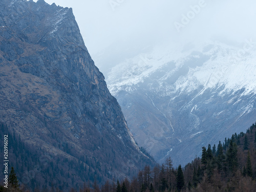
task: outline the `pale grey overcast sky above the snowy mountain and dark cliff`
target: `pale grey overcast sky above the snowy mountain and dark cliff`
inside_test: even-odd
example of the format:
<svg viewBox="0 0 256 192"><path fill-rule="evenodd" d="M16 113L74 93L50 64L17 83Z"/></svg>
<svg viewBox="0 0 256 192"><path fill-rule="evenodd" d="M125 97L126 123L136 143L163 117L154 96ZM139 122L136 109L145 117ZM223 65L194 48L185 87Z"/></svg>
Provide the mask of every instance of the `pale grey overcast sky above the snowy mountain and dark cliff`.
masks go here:
<svg viewBox="0 0 256 192"><path fill-rule="evenodd" d="M73 8L89 53L103 72L164 43L256 41L254 0L45 1Z"/></svg>

